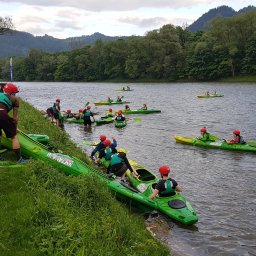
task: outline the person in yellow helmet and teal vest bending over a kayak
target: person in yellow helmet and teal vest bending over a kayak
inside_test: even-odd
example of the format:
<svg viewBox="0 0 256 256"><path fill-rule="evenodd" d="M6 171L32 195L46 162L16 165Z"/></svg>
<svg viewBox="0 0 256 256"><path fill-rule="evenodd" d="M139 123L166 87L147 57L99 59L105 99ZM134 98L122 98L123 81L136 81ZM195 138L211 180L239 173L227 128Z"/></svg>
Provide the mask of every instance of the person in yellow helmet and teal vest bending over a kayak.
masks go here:
<svg viewBox="0 0 256 256"><path fill-rule="evenodd" d="M124 181L125 173L130 170L135 177L138 177L136 170L133 170L124 149L118 149L118 152L111 156L110 165L107 172L115 174L117 177L121 177L121 181Z"/></svg>

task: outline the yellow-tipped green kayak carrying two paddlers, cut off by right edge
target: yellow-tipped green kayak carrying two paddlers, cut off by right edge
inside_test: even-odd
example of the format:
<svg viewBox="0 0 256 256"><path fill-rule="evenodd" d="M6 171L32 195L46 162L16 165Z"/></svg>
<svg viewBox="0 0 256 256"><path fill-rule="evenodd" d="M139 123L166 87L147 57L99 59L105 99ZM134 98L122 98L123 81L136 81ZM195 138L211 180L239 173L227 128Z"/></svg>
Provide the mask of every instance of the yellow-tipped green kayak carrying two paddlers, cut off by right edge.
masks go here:
<svg viewBox="0 0 256 256"><path fill-rule="evenodd" d="M176 142L183 144L190 144L205 148L218 148L225 150L251 151L256 152L256 142L247 142L246 144L228 144L225 140L217 138L215 141L201 141L197 138L182 137L175 135Z"/></svg>

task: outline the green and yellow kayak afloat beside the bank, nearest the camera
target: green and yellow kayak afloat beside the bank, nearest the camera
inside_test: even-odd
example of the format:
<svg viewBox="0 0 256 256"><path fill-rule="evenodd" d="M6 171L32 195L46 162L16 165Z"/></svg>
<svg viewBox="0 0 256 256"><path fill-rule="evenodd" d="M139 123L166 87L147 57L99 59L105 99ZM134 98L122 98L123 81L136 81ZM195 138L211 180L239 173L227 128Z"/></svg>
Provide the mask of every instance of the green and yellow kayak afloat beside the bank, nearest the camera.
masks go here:
<svg viewBox="0 0 256 256"><path fill-rule="evenodd" d="M129 162L132 168L139 174L139 178L135 178L130 170L128 170L129 182L135 189L149 197L159 178L135 161L130 160ZM176 192L174 196L169 197L157 196L154 198L154 202L157 205L157 210L185 225L192 225L198 221L195 210L181 193Z"/></svg>

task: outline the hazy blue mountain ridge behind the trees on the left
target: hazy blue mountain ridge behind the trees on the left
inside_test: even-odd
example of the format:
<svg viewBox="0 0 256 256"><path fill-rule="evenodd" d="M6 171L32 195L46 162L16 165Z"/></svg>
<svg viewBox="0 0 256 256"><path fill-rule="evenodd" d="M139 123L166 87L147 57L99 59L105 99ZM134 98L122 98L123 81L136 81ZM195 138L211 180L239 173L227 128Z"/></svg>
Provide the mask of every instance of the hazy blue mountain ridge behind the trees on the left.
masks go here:
<svg viewBox="0 0 256 256"><path fill-rule="evenodd" d="M26 56L30 49L39 49L48 53L70 51L75 48L81 48L85 44L92 45L97 40L107 42L118 39L126 40L127 38L128 37L111 37L100 33L94 33L90 36L57 39L48 35L33 36L27 32L11 31L0 35L0 57Z"/></svg>

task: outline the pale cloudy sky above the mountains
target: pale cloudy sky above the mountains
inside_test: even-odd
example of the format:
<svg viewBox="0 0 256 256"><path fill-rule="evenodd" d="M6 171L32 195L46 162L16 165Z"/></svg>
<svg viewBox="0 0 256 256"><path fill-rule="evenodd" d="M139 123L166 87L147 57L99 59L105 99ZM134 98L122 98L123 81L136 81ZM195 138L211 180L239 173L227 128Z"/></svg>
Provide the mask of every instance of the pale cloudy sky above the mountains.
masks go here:
<svg viewBox="0 0 256 256"><path fill-rule="evenodd" d="M190 25L221 5L238 11L256 0L0 0L0 17L34 36L142 36L165 24Z"/></svg>

